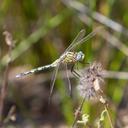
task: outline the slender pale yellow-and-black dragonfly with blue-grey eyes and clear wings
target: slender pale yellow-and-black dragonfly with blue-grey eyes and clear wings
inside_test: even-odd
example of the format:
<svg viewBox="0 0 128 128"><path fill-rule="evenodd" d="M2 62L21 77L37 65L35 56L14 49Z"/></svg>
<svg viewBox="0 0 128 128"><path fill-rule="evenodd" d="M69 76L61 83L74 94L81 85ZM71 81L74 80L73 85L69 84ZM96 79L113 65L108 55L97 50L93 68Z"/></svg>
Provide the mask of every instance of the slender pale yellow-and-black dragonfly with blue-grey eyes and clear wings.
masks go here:
<svg viewBox="0 0 128 128"><path fill-rule="evenodd" d="M35 69L32 69L30 71L26 71L26 72L17 74L16 77L20 78L20 77L23 77L23 76L26 76L26 75L29 75L29 74L33 74L33 73L37 73L37 72L40 72L40 71L43 71L43 70L46 70L46 69L55 68L55 72L54 72L52 80L51 80L51 89L50 89L50 94L49 94L49 97L51 97L59 66L61 64L65 64L65 65L74 64L75 65L75 63L77 63L77 62L83 61L83 59L85 57L85 54L82 51L74 52L72 50L77 45L80 45L80 44L86 42L87 40L89 40L90 38L92 38L93 36L95 36L98 33L98 31L100 31L100 30L101 30L101 27L98 27L94 31L89 33L87 36L85 36L85 29L82 29L77 34L77 36L72 41L72 43L69 45L69 47L53 63L45 65L45 66L41 66L41 67L38 67L38 68L35 68ZM71 91L71 85L70 85L69 80L68 80L68 83L69 83L69 90Z"/></svg>

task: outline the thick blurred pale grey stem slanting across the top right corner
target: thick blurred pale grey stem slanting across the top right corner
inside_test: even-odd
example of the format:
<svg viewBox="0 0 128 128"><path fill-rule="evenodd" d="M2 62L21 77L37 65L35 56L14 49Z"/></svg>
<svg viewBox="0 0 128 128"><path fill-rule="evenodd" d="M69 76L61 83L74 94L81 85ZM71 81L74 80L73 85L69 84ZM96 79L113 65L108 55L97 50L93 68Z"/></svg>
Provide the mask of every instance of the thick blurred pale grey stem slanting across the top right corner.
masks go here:
<svg viewBox="0 0 128 128"><path fill-rule="evenodd" d="M113 29L114 31L123 33L128 36L128 30L121 24L109 19L108 17L102 15L99 12L91 11L87 6L81 2L75 0L61 0L66 6L78 11L78 15L81 17L91 17L93 20Z"/></svg>

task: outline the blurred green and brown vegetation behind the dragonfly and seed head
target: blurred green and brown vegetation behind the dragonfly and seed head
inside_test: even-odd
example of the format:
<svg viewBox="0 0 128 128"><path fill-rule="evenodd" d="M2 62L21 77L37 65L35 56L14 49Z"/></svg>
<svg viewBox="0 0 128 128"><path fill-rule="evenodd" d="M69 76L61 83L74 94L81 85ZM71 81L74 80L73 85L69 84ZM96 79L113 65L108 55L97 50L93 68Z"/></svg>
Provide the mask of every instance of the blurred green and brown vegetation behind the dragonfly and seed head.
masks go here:
<svg viewBox="0 0 128 128"><path fill-rule="evenodd" d="M128 127L127 0L0 0L1 89L9 58L3 32L10 32L15 42L1 118L6 127L59 128L72 125L75 109L81 103L76 78L70 78L73 96L69 97L65 69L61 68L48 106L53 70L21 79L15 75L52 63L81 29L88 34L97 26L104 26L105 31L75 48L85 54L84 64L79 64L78 68L98 61L105 70L114 71L105 79L103 90L109 100L114 127ZM11 108L13 112L7 120ZM101 103L86 101L83 106L83 113L89 114L92 127L96 127L95 122L102 111ZM110 127L107 119L103 127Z"/></svg>

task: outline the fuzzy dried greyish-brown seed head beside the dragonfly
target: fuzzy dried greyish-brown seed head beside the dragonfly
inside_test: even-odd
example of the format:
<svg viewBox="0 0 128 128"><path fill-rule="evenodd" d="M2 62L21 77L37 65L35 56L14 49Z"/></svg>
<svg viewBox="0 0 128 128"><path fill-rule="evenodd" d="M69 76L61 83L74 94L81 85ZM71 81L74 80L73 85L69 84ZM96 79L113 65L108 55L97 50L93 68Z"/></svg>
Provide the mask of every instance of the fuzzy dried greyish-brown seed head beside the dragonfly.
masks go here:
<svg viewBox="0 0 128 128"><path fill-rule="evenodd" d="M86 99L96 97L97 92L101 90L100 83L103 81L102 72L101 64L96 62L82 72L79 78L79 85L77 86L80 96Z"/></svg>

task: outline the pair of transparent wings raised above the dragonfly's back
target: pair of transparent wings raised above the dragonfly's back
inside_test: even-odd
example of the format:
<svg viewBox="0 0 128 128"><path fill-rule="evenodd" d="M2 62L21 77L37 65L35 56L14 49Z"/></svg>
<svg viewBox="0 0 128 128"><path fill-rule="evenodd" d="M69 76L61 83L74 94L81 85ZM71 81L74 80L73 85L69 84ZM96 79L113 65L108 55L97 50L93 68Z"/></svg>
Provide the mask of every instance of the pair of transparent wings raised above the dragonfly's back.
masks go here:
<svg viewBox="0 0 128 128"><path fill-rule="evenodd" d="M103 27L98 27L98 28L96 28L94 31L92 31L91 33L89 33L86 37L84 37L84 38L79 38L78 36L80 36L80 35L82 35L82 31L80 31L79 33L78 33L78 35L76 36L76 38L74 39L74 41L69 45L69 47L66 49L66 52L67 51L70 51L71 49L73 49L73 48L75 48L77 45L79 45L79 44L82 44L82 43L84 43L84 42L86 42L87 40L89 40L90 38L92 38L93 36L95 36L96 35L96 33L98 33L99 31L101 31L101 29L103 29ZM80 36L80 37L82 37L82 36Z"/></svg>

